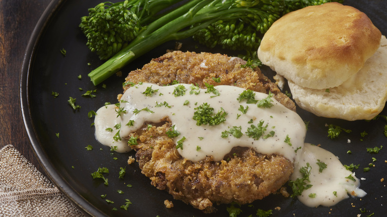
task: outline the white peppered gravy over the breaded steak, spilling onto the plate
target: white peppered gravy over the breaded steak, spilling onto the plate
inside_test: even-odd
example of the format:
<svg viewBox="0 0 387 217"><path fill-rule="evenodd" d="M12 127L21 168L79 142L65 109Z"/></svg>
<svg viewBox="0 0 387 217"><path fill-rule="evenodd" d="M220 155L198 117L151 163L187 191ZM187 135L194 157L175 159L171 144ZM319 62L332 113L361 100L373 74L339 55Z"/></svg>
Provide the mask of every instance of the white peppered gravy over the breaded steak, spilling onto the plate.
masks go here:
<svg viewBox="0 0 387 217"><path fill-rule="evenodd" d="M254 92L256 101L271 100L272 106L270 108L258 107L260 102L248 104L246 99L239 99L245 93L243 88L223 85L213 88L215 91L208 91L211 88L199 89L189 84L164 87L147 83L134 85L121 97L119 107L108 105L96 112L96 138L103 145L117 146L118 152L127 152L130 150L128 140L131 132L142 127L144 122L157 123L163 117L168 116L174 125L174 130L180 133L174 137L175 144L180 144L179 148L177 147L179 154L193 162L203 160L206 156L213 156L214 161L220 161L233 147L242 146L252 147L258 153L265 155L282 155L292 161L295 165L292 180L301 177L299 169L306 166L303 161L308 161L312 166L311 182L315 180L312 179L315 175L324 176L329 173L337 176L330 178L330 181L335 182L340 180L343 174L351 174L350 171L345 170L337 158L334 161L327 160L329 158L325 157L327 151L321 148L310 148L310 145L306 145L307 148L305 148L305 123L296 112L287 109L274 98L270 98L267 94ZM179 92L182 89L185 90L184 94ZM181 93L181 96L176 93ZM198 125L197 120L194 119L195 112L203 111L199 108L204 103L213 108L214 114L218 111L220 114L227 113L224 116L225 120L216 125ZM117 124L121 124L121 128ZM261 135L256 134L256 132L260 132ZM113 139L114 136L116 136L115 139ZM309 154L305 154L306 152ZM321 174L315 173L316 167L317 172L319 172L316 159L307 159L307 156L315 155L318 156L317 159L321 162L326 161L324 163L328 165ZM342 171L341 167L345 171ZM331 170L339 170L340 172ZM338 184L339 189L335 188L331 192L329 192L330 189L327 191L319 190L321 188L318 187L319 183L314 182L313 186L307 189L308 191L305 190L299 196L299 199L308 206L331 206L348 197L346 190L349 193L355 191L359 186L359 181L355 180L356 182L345 179L344 181L349 184ZM321 186L332 187L332 184L328 185ZM333 195L333 191L337 192L337 198ZM356 192L360 191L359 189ZM316 193L316 197L312 199L318 202L311 204L309 202L311 198L308 197L311 193L307 194L307 192ZM332 203L326 203L324 198L330 198L332 195L334 198L329 200ZM363 195L358 193L358 196Z"/></svg>

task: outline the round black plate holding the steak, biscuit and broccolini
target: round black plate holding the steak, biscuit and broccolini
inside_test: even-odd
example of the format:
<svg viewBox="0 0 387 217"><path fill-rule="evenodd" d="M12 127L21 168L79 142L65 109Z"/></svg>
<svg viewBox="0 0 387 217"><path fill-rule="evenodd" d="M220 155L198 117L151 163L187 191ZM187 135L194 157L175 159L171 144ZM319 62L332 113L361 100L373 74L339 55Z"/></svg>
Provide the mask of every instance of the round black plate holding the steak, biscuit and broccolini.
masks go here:
<svg viewBox="0 0 387 217"><path fill-rule="evenodd" d="M89 52L85 46L86 40L78 28L80 17L87 15L87 8L93 7L99 0L54 0L36 26L28 45L22 67L21 102L22 112L32 146L51 180L82 210L92 216L149 216L156 217L201 217L201 216L228 216L226 205L218 206L218 212L205 215L191 206L175 201L165 191L151 186L150 181L141 174L137 163L127 164L133 153L111 153L110 149L100 145L94 137L94 127L90 124L93 119L87 117L90 110L97 110L105 102L115 103L117 94L122 92L121 84L126 73L140 68L153 57L158 57L173 49L175 42L170 42L141 56L135 62L123 69L123 77L113 76L104 82L106 89L94 87L87 77L87 73L101 64L95 54ZM387 34L387 2L385 0L346 0L345 4L353 5L364 11L374 24ZM332 24L334 25L334 24ZM183 51L205 51L228 53L222 50L209 50L199 46L191 39L183 40ZM61 50L67 54L63 56ZM229 53L230 54L230 53ZM91 65L88 65L90 63ZM272 71L262 67L262 71L272 76ZM82 79L77 76L81 74ZM78 90L82 88L84 91ZM81 97L87 90L97 90L96 98ZM52 91L58 92L54 98ZM68 97L76 98L76 104L81 109L73 111L67 104ZM280 195L271 195L261 201L253 203L254 207L242 206L243 215L255 216L257 209L273 210L273 217L279 216L356 216L361 214L360 209L367 211L362 216L375 213L375 216L384 216L387 212L387 187L382 178L386 178L387 138L384 136L383 119L366 121L344 121L317 117L311 113L298 109L301 117L310 121L310 130L307 142L322 144L339 157L343 164L360 164L354 170L361 181L361 188L368 195L362 199L349 198L336 206L326 208L308 208L298 200L284 198ZM382 114L387 114L385 109ZM325 123L337 124L351 129L352 133L342 133L338 139L327 137ZM360 141L360 133L366 131L368 135ZM59 138L56 136L59 133ZM350 139L351 143L347 143ZM86 146L94 147L87 151ZM377 155L366 152L367 147L386 146ZM102 150L100 150L100 148ZM352 154L347 154L351 150ZM376 158L375 167L369 172L363 172L372 158ZM117 158L114 160L113 158ZM124 179L118 178L120 167L127 167ZM72 168L73 167L73 168ZM108 167L110 173L109 186L100 180L93 180L91 173L98 167ZM385 177L386 176L386 177ZM131 184L132 187L127 187ZM117 193L122 190L125 194ZM114 201L108 204L100 195L107 195L105 199ZM120 209L129 199L132 205L129 210ZM172 200L175 207L166 209L164 200ZM274 210L275 207L281 209ZM112 211L117 208L118 211ZM330 215L329 215L330 214Z"/></svg>

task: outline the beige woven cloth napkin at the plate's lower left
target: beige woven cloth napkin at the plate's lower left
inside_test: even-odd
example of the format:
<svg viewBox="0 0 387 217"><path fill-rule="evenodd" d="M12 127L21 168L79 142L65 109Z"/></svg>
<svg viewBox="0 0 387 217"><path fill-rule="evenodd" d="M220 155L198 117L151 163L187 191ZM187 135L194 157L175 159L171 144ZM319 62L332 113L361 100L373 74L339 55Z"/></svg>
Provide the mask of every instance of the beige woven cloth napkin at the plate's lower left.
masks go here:
<svg viewBox="0 0 387 217"><path fill-rule="evenodd" d="M0 150L1 217L84 217L12 145Z"/></svg>

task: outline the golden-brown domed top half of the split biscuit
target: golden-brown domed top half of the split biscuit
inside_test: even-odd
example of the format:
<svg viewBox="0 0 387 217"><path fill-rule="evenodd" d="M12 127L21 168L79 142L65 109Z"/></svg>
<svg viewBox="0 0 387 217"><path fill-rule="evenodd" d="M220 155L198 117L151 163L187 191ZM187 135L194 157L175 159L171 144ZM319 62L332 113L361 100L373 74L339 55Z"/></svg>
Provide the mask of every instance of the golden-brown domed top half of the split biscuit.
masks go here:
<svg viewBox="0 0 387 217"><path fill-rule="evenodd" d="M379 48L381 32L366 14L337 2L290 12L269 28L258 57L295 84L337 87Z"/></svg>

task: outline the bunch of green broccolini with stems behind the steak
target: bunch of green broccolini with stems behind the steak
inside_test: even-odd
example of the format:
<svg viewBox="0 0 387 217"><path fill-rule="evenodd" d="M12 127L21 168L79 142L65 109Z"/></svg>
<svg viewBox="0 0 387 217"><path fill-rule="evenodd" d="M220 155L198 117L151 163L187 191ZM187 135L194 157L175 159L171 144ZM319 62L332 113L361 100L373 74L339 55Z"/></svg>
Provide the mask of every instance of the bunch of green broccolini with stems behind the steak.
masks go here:
<svg viewBox="0 0 387 217"><path fill-rule="evenodd" d="M182 1L180 3L179 1ZM257 58L262 35L288 11L331 0L126 0L100 3L81 18L87 46L104 64L88 74L97 85L157 46L191 36L209 47ZM179 7L174 7L179 2ZM172 8L168 10L169 8Z"/></svg>

